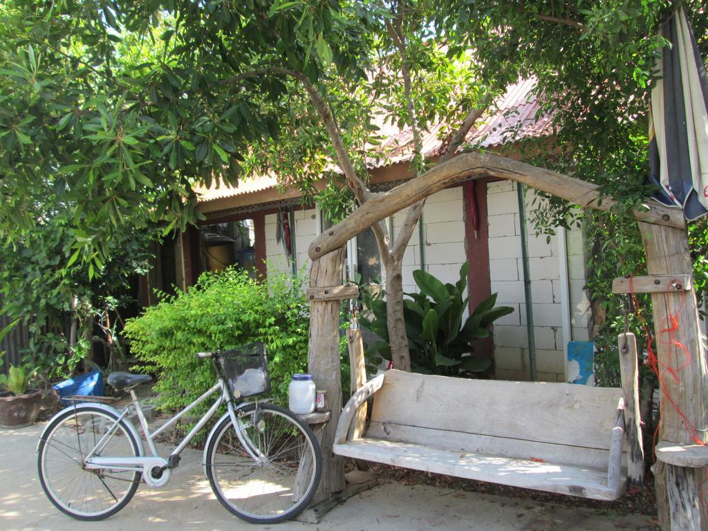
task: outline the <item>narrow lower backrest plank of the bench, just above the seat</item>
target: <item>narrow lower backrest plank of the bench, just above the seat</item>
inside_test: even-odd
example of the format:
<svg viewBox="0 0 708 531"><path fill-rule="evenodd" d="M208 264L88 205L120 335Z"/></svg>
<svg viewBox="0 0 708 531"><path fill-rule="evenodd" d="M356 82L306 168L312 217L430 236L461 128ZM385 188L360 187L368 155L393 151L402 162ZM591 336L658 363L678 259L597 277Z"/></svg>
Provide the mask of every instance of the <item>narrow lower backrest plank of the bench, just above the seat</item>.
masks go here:
<svg viewBox="0 0 708 531"><path fill-rule="evenodd" d="M608 450L581 446L556 445L551 442L514 439L510 437L492 437L463 431L435 430L402 426L394 423L372 422L366 432L367 438L381 440L404 440L411 444L431 446L440 450L457 453L498 455L515 459L540 459L547 462L573 464L577 467L589 467L607 470L610 458ZM607 433L610 437L610 433ZM626 454L622 454L622 467L627 466Z"/></svg>

